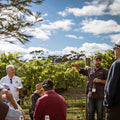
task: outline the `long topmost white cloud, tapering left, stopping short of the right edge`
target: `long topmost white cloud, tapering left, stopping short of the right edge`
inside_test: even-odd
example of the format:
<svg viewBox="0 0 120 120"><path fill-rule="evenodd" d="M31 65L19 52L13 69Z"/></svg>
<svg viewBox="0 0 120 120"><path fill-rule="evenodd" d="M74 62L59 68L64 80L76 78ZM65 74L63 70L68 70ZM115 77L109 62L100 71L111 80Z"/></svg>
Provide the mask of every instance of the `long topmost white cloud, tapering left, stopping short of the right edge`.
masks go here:
<svg viewBox="0 0 120 120"><path fill-rule="evenodd" d="M99 16L106 14L104 11L106 10L109 0L100 1L93 0L91 2L85 2L87 5L82 8L69 8L67 7L64 11L58 12L61 16L67 16L68 14L73 14L74 16Z"/></svg>

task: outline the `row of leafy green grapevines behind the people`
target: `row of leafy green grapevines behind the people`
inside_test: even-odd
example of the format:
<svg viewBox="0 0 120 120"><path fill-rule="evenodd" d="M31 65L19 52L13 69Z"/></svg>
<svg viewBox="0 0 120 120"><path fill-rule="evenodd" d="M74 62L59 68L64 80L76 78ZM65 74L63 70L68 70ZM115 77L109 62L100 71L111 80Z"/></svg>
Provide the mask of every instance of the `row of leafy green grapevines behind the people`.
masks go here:
<svg viewBox="0 0 120 120"><path fill-rule="evenodd" d="M113 51L108 50L104 54L98 54L103 58L102 66L109 69L113 61L115 61ZM91 56L90 59L92 66L93 56ZM86 77L79 75L75 68L71 68L72 62L79 64L81 67L86 66L83 57L74 61L72 59L64 63L56 63L50 58L23 61L20 53L8 53L8 55L2 53L0 54L0 79L6 75L6 65L13 64L15 66L16 75L22 80L24 94L28 96L35 90L35 85L42 82L44 79L52 79L55 83L56 91L58 92L64 92L76 87L85 89Z"/></svg>

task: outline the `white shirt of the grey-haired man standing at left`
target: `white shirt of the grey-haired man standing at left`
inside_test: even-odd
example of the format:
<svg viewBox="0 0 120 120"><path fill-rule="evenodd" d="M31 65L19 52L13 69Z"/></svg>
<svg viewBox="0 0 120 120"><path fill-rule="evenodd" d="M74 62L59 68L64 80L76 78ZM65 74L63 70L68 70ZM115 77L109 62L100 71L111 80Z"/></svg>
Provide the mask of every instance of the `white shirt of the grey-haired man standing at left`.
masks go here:
<svg viewBox="0 0 120 120"><path fill-rule="evenodd" d="M20 80L19 77L13 76L13 78L12 78L12 84L11 84L10 83L10 78L7 75L7 76L1 78L0 83L5 83L5 84L9 85L10 90L11 90L11 92L13 94L13 97L16 99L16 101L19 100L19 91L16 90L16 87L20 87L20 88L23 87L23 85L22 85L21 80Z"/></svg>

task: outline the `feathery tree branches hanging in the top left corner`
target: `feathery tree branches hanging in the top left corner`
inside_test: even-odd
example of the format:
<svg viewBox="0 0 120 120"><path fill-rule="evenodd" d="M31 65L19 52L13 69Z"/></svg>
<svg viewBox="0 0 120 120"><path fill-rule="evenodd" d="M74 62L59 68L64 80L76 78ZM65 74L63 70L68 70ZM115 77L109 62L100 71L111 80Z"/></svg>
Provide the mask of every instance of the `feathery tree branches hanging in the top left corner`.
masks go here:
<svg viewBox="0 0 120 120"><path fill-rule="evenodd" d="M42 21L40 13L33 13L31 5L41 4L43 0L0 0L0 36L1 39L10 43L16 41L25 44L31 35L22 32L23 28L33 26ZM28 17L34 17L30 21Z"/></svg>

